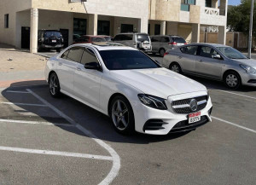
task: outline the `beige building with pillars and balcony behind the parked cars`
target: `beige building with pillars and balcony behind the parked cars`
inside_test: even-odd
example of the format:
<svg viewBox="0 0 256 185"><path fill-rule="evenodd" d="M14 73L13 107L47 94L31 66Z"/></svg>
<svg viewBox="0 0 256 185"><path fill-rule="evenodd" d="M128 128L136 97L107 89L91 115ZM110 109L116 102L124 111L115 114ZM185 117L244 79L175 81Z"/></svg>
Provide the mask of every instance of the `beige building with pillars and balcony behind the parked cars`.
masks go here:
<svg viewBox="0 0 256 185"><path fill-rule="evenodd" d="M228 0L1 0L0 43L37 52L38 30L60 30L67 45L76 34L148 32L200 41L200 26L218 26L225 42ZM218 9L219 7L219 9Z"/></svg>

